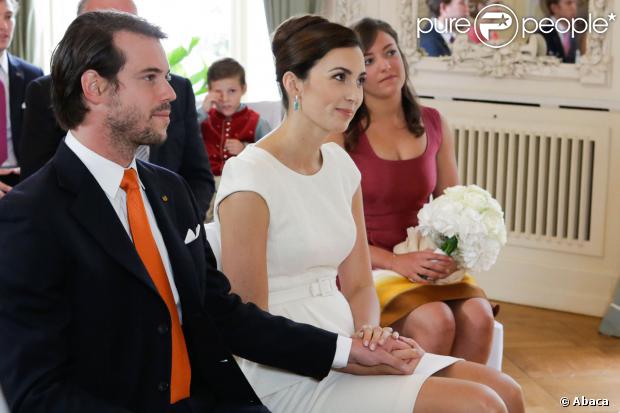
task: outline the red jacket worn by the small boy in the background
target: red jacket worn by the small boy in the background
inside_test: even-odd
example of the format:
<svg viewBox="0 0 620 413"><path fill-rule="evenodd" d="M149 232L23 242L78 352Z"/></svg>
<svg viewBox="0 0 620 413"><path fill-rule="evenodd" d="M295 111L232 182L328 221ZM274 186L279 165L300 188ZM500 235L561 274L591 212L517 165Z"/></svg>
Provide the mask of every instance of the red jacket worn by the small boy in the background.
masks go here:
<svg viewBox="0 0 620 413"><path fill-rule="evenodd" d="M222 175L224 162L234 156L224 149L226 139L254 143L258 120L258 113L248 107L233 113L231 117L222 115L215 108L209 110L209 117L200 124L200 130L213 175Z"/></svg>

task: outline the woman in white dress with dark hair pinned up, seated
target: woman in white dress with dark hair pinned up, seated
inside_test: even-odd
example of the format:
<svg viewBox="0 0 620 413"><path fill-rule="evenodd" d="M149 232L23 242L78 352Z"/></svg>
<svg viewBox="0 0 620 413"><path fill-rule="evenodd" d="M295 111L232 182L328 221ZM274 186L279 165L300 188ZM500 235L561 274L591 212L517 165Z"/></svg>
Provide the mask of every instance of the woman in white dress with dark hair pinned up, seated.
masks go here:
<svg viewBox="0 0 620 413"><path fill-rule="evenodd" d="M215 202L223 270L245 301L374 344L391 331L378 327L360 174L337 144L322 145L362 101L362 51L350 29L317 16L284 22L272 50L287 117L224 168ZM332 370L321 381L239 361L274 412L523 411L510 377L419 353L412 375Z"/></svg>

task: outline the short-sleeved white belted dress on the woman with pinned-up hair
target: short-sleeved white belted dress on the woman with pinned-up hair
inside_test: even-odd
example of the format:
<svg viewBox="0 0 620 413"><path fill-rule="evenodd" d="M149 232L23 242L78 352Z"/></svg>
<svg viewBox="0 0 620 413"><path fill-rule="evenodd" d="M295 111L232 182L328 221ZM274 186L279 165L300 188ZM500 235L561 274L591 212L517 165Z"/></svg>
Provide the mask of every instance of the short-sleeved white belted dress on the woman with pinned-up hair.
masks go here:
<svg viewBox="0 0 620 413"><path fill-rule="evenodd" d="M219 231L217 207L228 195L250 191L261 196L269 208L269 312L349 337L353 317L336 288L336 275L355 242L351 204L360 173L337 144L323 145L321 153L321 169L302 175L249 145L226 162L215 221ZM410 413L424 381L456 361L425 354L410 376L354 376L332 370L318 381L238 358L257 395L274 413Z"/></svg>

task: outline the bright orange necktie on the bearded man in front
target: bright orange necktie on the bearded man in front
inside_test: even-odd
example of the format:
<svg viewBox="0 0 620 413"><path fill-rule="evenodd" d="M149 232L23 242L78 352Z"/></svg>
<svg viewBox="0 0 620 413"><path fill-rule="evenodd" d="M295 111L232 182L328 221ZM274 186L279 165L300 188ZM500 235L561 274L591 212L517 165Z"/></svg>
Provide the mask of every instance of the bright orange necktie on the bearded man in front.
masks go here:
<svg viewBox="0 0 620 413"><path fill-rule="evenodd" d="M181 329L177 306L174 303L172 290L164 264L159 255L157 244L151 232L146 210L140 194L138 175L134 169L126 169L121 181L121 188L127 193L127 216L129 218L129 229L133 242L151 276L159 295L164 299L166 307L170 312L172 324L172 371L170 373L170 403L189 397L189 384L191 380L191 368L189 356L185 345L185 337Z"/></svg>

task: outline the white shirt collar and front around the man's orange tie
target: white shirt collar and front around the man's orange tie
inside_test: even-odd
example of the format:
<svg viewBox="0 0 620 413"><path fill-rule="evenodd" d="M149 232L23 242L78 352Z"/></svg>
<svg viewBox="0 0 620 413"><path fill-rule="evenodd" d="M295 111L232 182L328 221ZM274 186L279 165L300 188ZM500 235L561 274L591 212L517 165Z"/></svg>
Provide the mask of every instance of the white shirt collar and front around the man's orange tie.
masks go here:
<svg viewBox="0 0 620 413"><path fill-rule="evenodd" d="M71 149L73 153L75 153L75 155L80 158L82 163L95 177L95 180L97 181L101 189L103 189L103 192L105 192L108 200L110 201L110 204L112 204L112 208L114 208L116 215L118 215L118 219L120 220L121 224L123 224L123 228L125 228L127 235L129 235L129 238L131 239L129 220L127 219L127 194L121 188L121 181L123 180L123 175L125 174L125 168L88 149L80 141L78 141L75 136L73 136L71 131L67 132L65 143L67 144L69 149ZM146 196L146 192L144 192L144 185L142 184L142 181L140 181L140 174L138 173L138 170L136 168L135 158L131 161L129 168L135 169L138 175L138 182L140 183L140 194L142 195L142 201L144 202L144 208L146 209L146 216L149 220L151 232L153 233L155 244L157 244L159 255L162 262L164 263L164 269L166 270L166 275L168 276L168 281L170 282L170 289L172 290L174 302L179 312L179 319L181 320L181 322L183 322L179 292L177 291L176 284L174 283L174 277L172 273L172 266L170 265L170 257L168 256L168 250L166 249L166 244L164 244L164 238L162 237L161 232L159 231L159 227L157 226L155 214L153 214L153 209L151 208L149 199Z"/></svg>

